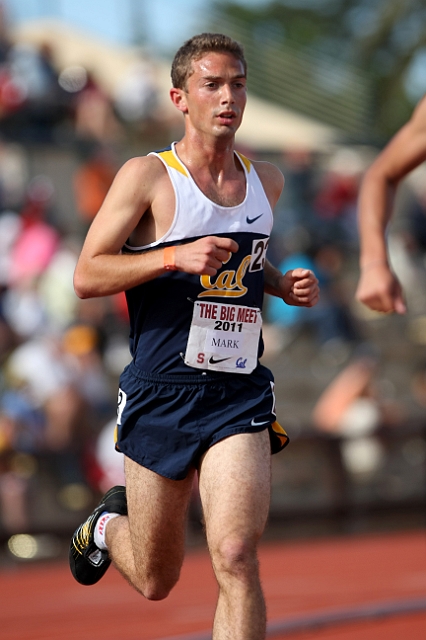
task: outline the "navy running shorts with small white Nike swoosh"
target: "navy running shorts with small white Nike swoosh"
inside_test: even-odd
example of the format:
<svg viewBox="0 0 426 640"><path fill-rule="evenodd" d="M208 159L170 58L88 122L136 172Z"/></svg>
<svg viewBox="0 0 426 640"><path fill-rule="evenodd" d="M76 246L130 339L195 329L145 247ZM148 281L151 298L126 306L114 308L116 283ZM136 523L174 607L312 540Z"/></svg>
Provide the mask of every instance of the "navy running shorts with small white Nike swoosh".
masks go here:
<svg viewBox="0 0 426 640"><path fill-rule="evenodd" d="M288 443L276 422L272 373L164 376L132 363L120 377L116 447L165 478L182 480L216 442L268 428L271 452Z"/></svg>

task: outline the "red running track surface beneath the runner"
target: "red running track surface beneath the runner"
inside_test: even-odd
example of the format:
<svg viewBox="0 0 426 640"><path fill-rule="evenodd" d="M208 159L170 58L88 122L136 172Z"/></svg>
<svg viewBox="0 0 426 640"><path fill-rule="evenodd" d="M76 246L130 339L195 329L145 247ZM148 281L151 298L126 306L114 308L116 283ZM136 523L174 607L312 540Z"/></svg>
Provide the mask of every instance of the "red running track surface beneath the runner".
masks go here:
<svg viewBox="0 0 426 640"><path fill-rule="evenodd" d="M268 637L426 638L424 531L264 544L260 562ZM216 594L205 551L188 554L162 602L138 596L114 569L82 587L63 562L16 566L0 573L0 637L207 640Z"/></svg>

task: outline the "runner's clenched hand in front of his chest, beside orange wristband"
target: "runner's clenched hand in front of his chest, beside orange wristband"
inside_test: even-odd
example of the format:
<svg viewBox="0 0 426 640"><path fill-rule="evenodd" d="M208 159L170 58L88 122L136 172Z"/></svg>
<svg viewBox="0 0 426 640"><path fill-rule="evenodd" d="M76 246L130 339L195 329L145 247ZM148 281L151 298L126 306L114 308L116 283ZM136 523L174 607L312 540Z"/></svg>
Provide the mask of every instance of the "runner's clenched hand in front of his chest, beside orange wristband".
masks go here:
<svg viewBox="0 0 426 640"><path fill-rule="evenodd" d="M238 251L238 244L231 238L207 236L175 248L175 264L179 271L198 275L215 276L231 253Z"/></svg>

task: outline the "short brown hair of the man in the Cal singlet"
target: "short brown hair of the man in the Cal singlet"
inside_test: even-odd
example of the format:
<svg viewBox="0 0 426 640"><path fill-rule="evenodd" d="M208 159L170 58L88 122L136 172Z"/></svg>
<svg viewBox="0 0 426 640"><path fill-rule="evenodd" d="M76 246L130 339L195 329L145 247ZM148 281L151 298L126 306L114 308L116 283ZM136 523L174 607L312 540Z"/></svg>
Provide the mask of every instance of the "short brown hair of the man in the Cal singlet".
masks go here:
<svg viewBox="0 0 426 640"><path fill-rule="evenodd" d="M231 53L242 62L244 73L247 73L244 50L239 42L222 33L201 33L187 40L174 57L171 76L175 89L185 89L186 81L192 74L192 61L199 60L206 53L211 53L212 51Z"/></svg>

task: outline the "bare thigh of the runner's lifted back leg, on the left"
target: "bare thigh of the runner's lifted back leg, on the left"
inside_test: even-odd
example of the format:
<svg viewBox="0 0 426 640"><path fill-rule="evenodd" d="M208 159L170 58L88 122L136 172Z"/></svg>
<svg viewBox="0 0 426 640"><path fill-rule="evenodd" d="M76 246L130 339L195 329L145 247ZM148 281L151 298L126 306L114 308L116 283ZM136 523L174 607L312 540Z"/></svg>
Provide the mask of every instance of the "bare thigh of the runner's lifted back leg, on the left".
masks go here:
<svg viewBox="0 0 426 640"><path fill-rule="evenodd" d="M183 561L186 514L194 470L169 480L125 458L130 537L139 569L177 570Z"/></svg>

